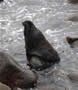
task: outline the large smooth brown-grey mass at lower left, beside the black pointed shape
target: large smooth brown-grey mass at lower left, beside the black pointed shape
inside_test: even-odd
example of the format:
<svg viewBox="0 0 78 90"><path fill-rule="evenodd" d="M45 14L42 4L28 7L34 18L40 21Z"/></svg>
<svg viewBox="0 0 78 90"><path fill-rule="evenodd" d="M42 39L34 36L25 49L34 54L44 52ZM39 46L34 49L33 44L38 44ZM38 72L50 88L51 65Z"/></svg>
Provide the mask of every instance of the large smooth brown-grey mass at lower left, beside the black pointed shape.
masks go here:
<svg viewBox="0 0 78 90"><path fill-rule="evenodd" d="M0 52L0 82L15 88L31 88L37 82L37 76L31 70L24 70L10 55Z"/></svg>

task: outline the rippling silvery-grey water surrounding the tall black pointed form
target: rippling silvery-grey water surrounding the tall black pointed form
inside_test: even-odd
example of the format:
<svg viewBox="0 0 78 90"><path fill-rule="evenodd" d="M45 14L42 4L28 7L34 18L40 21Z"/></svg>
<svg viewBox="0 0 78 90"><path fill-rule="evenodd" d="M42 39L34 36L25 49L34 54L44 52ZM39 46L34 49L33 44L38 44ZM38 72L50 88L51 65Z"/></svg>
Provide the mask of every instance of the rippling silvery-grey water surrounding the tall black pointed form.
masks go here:
<svg viewBox="0 0 78 90"><path fill-rule="evenodd" d="M22 22L31 20L43 32L60 55L61 62L53 70L63 75L48 76L52 68L38 72L40 81L50 87L54 84L78 90L78 84L70 82L66 73L78 70L78 48L72 49L66 36L78 36L78 22L68 18L77 16L78 5L66 0L4 0L0 4L0 50L6 50L22 65L26 62ZM25 66L25 65L24 65ZM51 88L51 87L50 87ZM38 87L36 90L40 90Z"/></svg>

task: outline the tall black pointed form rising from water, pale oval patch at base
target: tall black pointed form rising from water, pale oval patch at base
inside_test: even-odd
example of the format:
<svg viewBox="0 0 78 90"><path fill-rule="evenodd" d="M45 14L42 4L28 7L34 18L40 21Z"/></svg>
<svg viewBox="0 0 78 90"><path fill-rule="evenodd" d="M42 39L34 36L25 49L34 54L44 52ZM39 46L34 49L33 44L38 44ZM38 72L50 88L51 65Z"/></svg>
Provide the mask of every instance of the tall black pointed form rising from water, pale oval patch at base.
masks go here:
<svg viewBox="0 0 78 90"><path fill-rule="evenodd" d="M22 24L24 26L26 56L30 67L36 70L44 70L55 63L59 63L58 53L33 22L24 21ZM32 64L33 62L34 64Z"/></svg>

